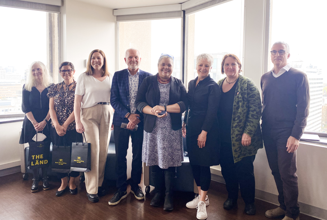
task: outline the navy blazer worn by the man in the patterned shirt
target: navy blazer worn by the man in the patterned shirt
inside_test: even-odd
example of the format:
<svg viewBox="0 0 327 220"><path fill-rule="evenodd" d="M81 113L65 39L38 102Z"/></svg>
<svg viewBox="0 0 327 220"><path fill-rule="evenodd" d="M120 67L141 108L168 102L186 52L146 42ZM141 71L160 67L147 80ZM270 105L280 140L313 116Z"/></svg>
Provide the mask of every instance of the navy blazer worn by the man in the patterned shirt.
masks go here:
<svg viewBox="0 0 327 220"><path fill-rule="evenodd" d="M152 75L151 73L142 71L139 69L139 88L140 85L147 76ZM111 95L110 95L111 106L115 109L113 115L113 125L121 126L121 123L128 123L128 119L125 115L131 112L129 106L129 80L128 80L128 69L115 72L112 78L111 84ZM141 122L139 125L143 125L143 115L139 111L135 114L141 116Z"/></svg>

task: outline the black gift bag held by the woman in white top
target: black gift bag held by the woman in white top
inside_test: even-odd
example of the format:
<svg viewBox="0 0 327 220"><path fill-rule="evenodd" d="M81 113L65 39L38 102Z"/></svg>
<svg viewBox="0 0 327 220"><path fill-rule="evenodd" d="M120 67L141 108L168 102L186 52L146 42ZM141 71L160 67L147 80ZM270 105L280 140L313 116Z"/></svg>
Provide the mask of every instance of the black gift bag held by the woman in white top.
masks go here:
<svg viewBox="0 0 327 220"><path fill-rule="evenodd" d="M82 142L72 143L71 171L91 171L91 144L86 143L84 132Z"/></svg>

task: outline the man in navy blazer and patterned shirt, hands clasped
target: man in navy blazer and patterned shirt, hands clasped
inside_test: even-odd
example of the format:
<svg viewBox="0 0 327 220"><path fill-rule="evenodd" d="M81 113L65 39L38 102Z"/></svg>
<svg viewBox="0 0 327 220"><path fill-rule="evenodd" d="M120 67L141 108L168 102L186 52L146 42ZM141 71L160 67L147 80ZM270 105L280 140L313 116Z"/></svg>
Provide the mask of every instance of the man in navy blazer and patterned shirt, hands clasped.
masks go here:
<svg viewBox="0 0 327 220"><path fill-rule="evenodd" d="M139 69L141 63L140 52L134 48L125 52L125 63L128 69L114 74L111 85L111 106L115 109L113 115L114 139L116 148L116 175L117 188L114 196L109 200L109 205L117 205L127 196L127 162L126 155L129 144L129 136L132 139L132 172L131 192L138 200L144 199L141 187L142 174L142 144L143 144L143 114L135 107L135 98L144 78L151 73ZM126 123L127 128L121 128ZM136 125L138 126L137 130Z"/></svg>

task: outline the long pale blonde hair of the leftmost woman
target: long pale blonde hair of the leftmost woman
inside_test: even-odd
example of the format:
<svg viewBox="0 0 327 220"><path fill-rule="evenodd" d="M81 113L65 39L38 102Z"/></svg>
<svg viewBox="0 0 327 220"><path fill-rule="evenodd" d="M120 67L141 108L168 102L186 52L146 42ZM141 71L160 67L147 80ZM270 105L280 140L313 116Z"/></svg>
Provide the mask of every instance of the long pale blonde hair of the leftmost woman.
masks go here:
<svg viewBox="0 0 327 220"><path fill-rule="evenodd" d="M40 65L40 67L42 69L42 73L43 73L42 74L42 85L43 86L48 87L52 84L52 81L53 81L52 77L49 74L47 67L41 61L35 61L29 67L29 74L27 77L27 82L25 83L25 89L27 91L32 91L32 87L37 86L36 80L32 73L32 67L34 64Z"/></svg>

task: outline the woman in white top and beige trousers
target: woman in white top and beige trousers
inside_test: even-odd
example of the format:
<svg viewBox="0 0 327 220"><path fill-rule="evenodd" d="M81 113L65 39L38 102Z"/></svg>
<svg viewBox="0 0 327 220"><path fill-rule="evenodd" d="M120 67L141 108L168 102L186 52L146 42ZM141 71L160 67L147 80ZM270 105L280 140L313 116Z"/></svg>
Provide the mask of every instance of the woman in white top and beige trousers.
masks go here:
<svg viewBox="0 0 327 220"><path fill-rule="evenodd" d="M91 143L91 171L85 173L88 200L98 202L104 167L107 158L112 123L110 105L111 80L103 51L93 50L87 61L86 72L82 73L75 91L76 131L84 132L86 142Z"/></svg>

